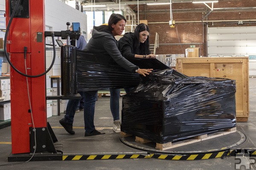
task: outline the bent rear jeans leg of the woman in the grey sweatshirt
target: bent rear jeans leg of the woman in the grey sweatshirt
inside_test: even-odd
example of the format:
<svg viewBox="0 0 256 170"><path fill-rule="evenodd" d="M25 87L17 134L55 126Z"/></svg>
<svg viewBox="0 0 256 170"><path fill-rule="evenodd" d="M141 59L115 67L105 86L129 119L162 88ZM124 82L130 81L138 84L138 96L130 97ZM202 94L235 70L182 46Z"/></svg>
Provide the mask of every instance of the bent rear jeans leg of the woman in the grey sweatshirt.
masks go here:
<svg viewBox="0 0 256 170"><path fill-rule="evenodd" d="M79 91L78 92L82 98L84 98L84 93L83 91ZM74 122L74 116L75 116L75 113L76 113L76 108L78 106L80 102L80 99L71 99L68 101L67 103L67 108L66 108L66 114L65 114L65 121L72 124L73 125L73 122Z"/></svg>

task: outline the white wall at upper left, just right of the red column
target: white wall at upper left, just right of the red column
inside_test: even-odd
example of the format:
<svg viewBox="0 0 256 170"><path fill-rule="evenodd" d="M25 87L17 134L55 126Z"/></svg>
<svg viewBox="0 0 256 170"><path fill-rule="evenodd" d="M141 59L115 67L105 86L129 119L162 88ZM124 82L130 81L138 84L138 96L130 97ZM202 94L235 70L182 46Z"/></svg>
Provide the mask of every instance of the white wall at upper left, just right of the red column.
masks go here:
<svg viewBox="0 0 256 170"><path fill-rule="evenodd" d="M51 27L52 31L64 31L67 30L67 22L80 23L81 32L87 34L86 14L60 0L45 0L45 26Z"/></svg>

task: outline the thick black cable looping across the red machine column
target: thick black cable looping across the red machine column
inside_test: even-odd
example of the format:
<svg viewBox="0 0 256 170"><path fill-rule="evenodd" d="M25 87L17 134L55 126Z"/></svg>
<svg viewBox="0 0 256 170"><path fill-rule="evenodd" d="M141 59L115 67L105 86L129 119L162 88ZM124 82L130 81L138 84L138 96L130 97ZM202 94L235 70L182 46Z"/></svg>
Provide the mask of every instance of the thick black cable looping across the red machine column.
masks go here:
<svg viewBox="0 0 256 170"><path fill-rule="evenodd" d="M10 20L9 20L9 23L8 23L8 25L7 25L7 28L6 28L6 34L5 34L5 37L4 37L4 53L5 53L5 55L6 55L6 59L7 59L7 61L9 62L9 64L11 65L11 67L15 70L15 71L17 71L17 73L19 73L19 74L21 74L21 75L23 75L23 76L25 76L25 77L41 77L41 76L43 76L43 75L45 75L45 74L47 74L50 70L51 70L51 68L52 68L52 66L53 66L53 64L54 64L54 62L55 62L55 56L56 56L56 49L55 49L55 42L54 42L54 32L52 31L52 33L51 33L51 37L52 37L52 45L53 45L53 59L52 59L52 64L50 65L50 67L47 69L47 71L45 71L44 73L42 73L42 74L38 74L38 75L28 75L28 74L24 74L24 73L22 73L22 72L20 72L17 68L15 68L15 66L12 64L12 62L10 61L10 59L9 59L9 57L8 57L8 54L7 54L7 49L6 49L6 41L7 41L7 35L8 35L8 32L9 32L9 29L10 29L10 25L11 25L11 23L12 23L12 19L13 19L13 17L14 17L14 14L15 14L15 11L17 11L17 4L19 4L20 3L20 0L18 0L17 1L17 3L16 3L16 5L15 5L15 8L14 8L14 10L12 11L12 15L11 15L11 18L10 18ZM24 57L25 57L25 47L24 47Z"/></svg>

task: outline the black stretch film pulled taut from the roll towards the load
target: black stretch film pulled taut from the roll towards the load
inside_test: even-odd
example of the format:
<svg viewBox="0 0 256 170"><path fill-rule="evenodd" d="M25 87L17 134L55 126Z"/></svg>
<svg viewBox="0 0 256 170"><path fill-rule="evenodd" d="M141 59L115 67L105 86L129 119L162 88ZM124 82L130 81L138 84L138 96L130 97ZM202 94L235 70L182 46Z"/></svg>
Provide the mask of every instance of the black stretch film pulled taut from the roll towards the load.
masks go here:
<svg viewBox="0 0 256 170"><path fill-rule="evenodd" d="M140 68L169 68L157 59L126 59ZM119 66L111 56L77 50L77 84L78 91L131 88L140 84L140 78L139 74L131 73Z"/></svg>

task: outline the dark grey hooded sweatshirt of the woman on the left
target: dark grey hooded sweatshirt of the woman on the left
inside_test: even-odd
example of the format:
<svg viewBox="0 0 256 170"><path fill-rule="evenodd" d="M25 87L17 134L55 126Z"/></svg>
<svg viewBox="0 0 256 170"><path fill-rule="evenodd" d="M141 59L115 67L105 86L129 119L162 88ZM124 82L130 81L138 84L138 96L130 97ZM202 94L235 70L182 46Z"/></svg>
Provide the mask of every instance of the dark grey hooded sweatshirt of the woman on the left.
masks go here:
<svg viewBox="0 0 256 170"><path fill-rule="evenodd" d="M122 56L117 48L116 38L106 25L93 26L92 38L85 46L84 51L109 55L118 65L131 73L134 73L139 68Z"/></svg>

